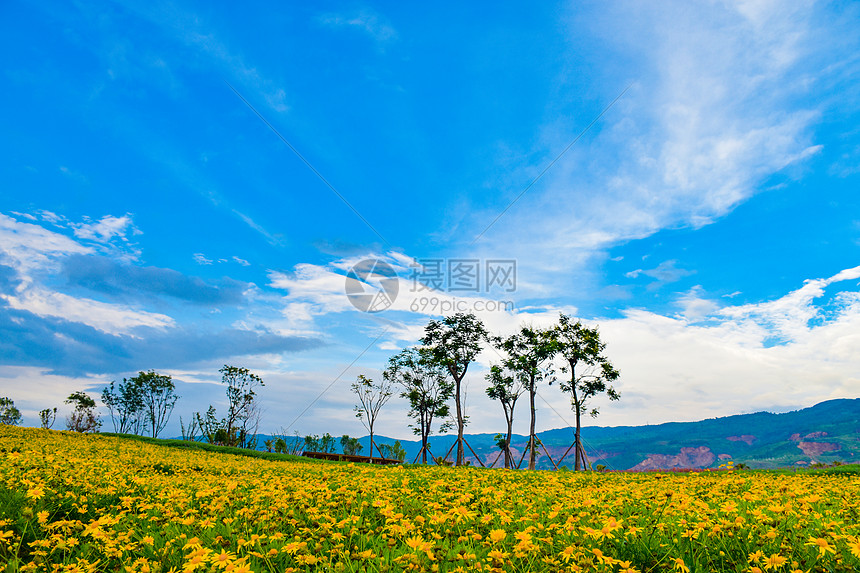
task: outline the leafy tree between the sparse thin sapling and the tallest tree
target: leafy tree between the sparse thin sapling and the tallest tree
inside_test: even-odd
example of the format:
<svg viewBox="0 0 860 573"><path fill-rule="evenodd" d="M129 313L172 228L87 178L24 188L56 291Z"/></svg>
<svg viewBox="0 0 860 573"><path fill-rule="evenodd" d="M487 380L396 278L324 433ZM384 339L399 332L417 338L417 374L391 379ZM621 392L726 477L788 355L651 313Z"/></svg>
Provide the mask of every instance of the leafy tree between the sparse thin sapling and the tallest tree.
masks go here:
<svg viewBox="0 0 860 573"><path fill-rule="evenodd" d="M409 427L421 436L422 463L426 464L433 421L449 415L448 400L454 385L448 380L448 372L433 361L428 349L407 348L389 359L383 377L399 384L403 388L400 397L409 400L409 417L416 422ZM450 427L450 421L446 420L439 431L444 433Z"/></svg>

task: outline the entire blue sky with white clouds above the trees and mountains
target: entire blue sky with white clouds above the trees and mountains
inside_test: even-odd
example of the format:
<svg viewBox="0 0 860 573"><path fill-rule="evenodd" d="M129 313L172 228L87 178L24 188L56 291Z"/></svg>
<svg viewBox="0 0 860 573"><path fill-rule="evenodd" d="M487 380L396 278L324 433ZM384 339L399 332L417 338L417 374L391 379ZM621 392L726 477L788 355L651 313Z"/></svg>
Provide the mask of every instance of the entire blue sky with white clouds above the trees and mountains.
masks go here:
<svg viewBox="0 0 860 573"><path fill-rule="evenodd" d="M516 261L512 292L432 294L505 301L478 312L495 333L599 325L622 373L601 424L860 391L854 4L0 10L0 395L29 424L154 368L177 433L236 364L267 382L263 430L361 434L349 383L440 316L416 260ZM384 312L345 294L365 259L398 277ZM502 427L495 359L471 431Z"/></svg>

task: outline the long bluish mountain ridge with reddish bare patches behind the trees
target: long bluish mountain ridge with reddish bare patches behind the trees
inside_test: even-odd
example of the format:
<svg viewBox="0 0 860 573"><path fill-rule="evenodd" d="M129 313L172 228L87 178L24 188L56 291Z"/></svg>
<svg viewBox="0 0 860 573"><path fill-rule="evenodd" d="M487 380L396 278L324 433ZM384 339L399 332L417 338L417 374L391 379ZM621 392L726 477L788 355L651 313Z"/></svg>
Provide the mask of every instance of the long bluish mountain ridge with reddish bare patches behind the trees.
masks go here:
<svg viewBox="0 0 860 573"><path fill-rule="evenodd" d="M431 451L444 456L456 436L431 437ZM540 432L538 437L557 462L573 442L573 429ZM729 460L754 468L804 467L814 463L860 463L860 399L829 400L811 408L772 414L758 412L699 422L669 422L648 426L582 428L583 444L593 465L615 470L713 468ZM468 444L489 465L498 456L494 434L466 435ZM515 435L512 451L519 460L527 436ZM377 443L393 443L380 436ZM421 444L400 440L411 462ZM364 452L368 438L362 439ZM539 450L543 454L543 450ZM477 464L475 456L466 450ZM453 453L449 459L453 458ZM495 467L500 467L499 460ZM524 462L525 465L526 462ZM572 467L572 453L564 460ZM546 455L538 469L554 466Z"/></svg>

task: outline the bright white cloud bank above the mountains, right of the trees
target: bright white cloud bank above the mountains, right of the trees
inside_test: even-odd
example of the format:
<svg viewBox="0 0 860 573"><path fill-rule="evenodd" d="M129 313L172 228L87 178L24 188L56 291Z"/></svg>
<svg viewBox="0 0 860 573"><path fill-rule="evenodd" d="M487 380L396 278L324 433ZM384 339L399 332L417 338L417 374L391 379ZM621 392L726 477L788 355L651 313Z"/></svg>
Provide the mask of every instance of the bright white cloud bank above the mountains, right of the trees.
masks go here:
<svg viewBox="0 0 860 573"><path fill-rule="evenodd" d="M631 310L601 322L622 373L622 401L602 422L695 420L855 396L860 292L845 283L858 277L860 267L846 269L773 301L723 308L694 289L681 299L682 316ZM836 311L810 323L822 313L816 299L828 286L843 289L835 293ZM771 346L775 336L781 344Z"/></svg>

